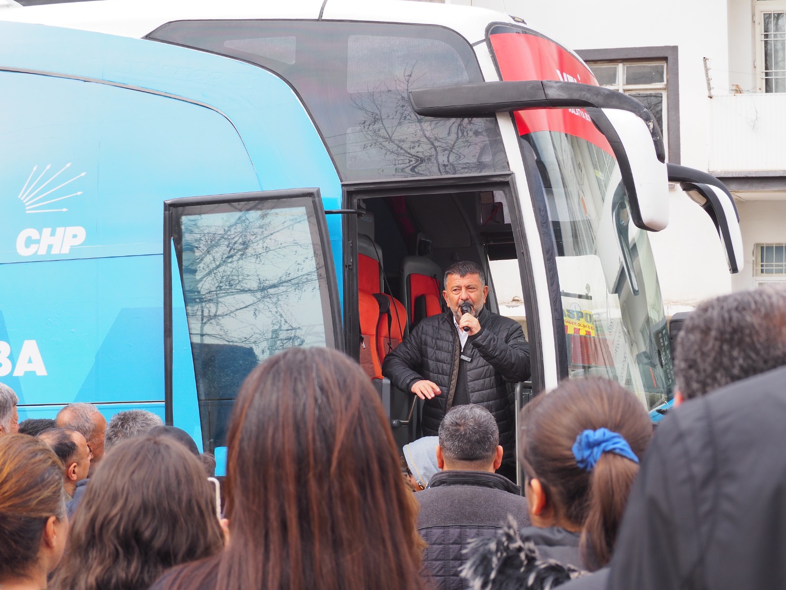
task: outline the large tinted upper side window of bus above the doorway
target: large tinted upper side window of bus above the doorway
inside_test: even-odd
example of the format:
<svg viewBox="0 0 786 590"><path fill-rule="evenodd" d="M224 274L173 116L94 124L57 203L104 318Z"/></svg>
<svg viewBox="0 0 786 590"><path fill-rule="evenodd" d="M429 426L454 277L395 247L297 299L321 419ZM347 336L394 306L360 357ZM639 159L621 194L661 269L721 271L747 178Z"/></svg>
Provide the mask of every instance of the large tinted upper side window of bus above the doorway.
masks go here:
<svg viewBox="0 0 786 590"><path fill-rule="evenodd" d="M288 80L343 180L509 169L493 117L432 119L412 111L413 88L483 81L472 47L444 28L189 20L148 36L250 61Z"/></svg>

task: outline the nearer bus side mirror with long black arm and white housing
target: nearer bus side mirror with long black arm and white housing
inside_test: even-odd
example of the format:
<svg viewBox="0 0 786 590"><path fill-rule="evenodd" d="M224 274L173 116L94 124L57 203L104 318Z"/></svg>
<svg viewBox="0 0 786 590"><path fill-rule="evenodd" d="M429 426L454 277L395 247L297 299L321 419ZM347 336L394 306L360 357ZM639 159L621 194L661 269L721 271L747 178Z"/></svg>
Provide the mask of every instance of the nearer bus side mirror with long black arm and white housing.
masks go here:
<svg viewBox="0 0 786 590"><path fill-rule="evenodd" d="M524 109L586 109L612 146L623 177L630 217L643 230L669 223L666 150L652 113L616 90L557 80L480 82L410 90L421 116L494 116Z"/></svg>

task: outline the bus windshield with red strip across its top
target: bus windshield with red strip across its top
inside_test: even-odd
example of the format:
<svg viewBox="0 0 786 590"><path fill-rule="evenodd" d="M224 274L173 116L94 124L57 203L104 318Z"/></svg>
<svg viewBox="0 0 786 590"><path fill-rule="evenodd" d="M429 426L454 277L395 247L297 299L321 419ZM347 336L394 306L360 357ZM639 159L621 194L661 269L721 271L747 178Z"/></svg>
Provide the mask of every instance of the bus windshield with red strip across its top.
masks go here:
<svg viewBox="0 0 786 590"><path fill-rule="evenodd" d="M493 28L490 43L502 79L596 83L578 57L526 29ZM648 235L630 219L612 149L581 109L514 116L545 200L569 374L611 378L651 410L674 385L667 322Z"/></svg>

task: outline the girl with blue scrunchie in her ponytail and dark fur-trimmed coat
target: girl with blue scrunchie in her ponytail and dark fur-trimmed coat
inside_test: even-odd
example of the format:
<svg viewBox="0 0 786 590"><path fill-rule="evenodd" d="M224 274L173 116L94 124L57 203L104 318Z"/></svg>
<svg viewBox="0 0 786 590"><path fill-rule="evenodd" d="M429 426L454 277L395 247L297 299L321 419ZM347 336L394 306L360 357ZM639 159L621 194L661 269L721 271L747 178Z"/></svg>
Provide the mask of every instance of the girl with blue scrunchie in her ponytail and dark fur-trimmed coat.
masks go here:
<svg viewBox="0 0 786 590"><path fill-rule="evenodd" d="M652 437L641 401L598 377L566 380L536 397L520 429L532 526L506 527L470 548L472 588L553 588L606 566Z"/></svg>

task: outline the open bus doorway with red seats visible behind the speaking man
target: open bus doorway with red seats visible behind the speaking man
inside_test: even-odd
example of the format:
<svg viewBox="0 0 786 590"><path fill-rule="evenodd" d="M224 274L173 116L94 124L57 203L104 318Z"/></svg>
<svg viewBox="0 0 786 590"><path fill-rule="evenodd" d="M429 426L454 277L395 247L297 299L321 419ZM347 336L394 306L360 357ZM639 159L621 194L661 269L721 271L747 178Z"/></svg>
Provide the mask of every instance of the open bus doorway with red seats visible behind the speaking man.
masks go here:
<svg viewBox="0 0 786 590"><path fill-rule="evenodd" d="M355 226L347 234L355 240L347 242L357 245L352 253L356 270L345 277L347 351L380 391L399 448L423 436L423 401L391 386L382 377L381 364L417 323L447 312L447 267L459 260L478 264L489 288L487 310L516 319L524 334L530 331L524 311L526 283L516 256L522 251L515 237L520 224L515 221L516 207L509 205L510 193L507 186L479 186L388 191L379 196L358 193L351 198L349 206L365 213L347 220ZM532 347L531 355L534 364L537 354ZM516 385L510 384L512 412L515 391Z"/></svg>

